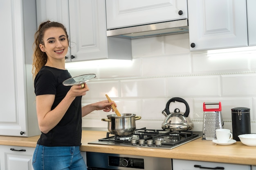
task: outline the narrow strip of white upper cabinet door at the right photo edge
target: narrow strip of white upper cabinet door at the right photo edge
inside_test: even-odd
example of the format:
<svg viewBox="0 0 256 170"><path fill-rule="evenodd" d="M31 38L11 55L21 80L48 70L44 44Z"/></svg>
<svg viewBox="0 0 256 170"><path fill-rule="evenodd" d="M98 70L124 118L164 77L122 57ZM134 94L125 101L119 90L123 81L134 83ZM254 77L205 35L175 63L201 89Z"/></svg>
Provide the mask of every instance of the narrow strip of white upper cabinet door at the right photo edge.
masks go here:
<svg viewBox="0 0 256 170"><path fill-rule="evenodd" d="M248 24L248 43L249 46L256 46L256 1L247 0L247 24Z"/></svg>

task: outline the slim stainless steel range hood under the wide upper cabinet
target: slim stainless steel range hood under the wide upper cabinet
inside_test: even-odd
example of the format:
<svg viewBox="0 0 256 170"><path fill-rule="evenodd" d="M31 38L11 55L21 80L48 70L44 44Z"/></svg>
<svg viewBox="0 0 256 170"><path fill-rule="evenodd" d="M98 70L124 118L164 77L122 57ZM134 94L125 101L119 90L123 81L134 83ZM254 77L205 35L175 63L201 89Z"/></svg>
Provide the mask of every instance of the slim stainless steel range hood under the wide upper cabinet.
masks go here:
<svg viewBox="0 0 256 170"><path fill-rule="evenodd" d="M107 30L107 37L118 37L125 39L137 39L155 37L161 35L172 35L189 32L188 20L175 20L156 24L132 26Z"/></svg>

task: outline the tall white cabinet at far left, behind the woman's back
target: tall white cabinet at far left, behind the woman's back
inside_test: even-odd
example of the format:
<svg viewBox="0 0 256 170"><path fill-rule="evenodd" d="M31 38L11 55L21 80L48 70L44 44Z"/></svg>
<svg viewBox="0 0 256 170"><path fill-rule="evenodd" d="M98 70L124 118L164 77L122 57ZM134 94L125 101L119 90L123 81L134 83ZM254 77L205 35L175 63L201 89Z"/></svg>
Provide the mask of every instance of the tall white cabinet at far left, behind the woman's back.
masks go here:
<svg viewBox="0 0 256 170"><path fill-rule="evenodd" d="M31 73L35 8L35 0L0 1L0 135L40 134Z"/></svg>

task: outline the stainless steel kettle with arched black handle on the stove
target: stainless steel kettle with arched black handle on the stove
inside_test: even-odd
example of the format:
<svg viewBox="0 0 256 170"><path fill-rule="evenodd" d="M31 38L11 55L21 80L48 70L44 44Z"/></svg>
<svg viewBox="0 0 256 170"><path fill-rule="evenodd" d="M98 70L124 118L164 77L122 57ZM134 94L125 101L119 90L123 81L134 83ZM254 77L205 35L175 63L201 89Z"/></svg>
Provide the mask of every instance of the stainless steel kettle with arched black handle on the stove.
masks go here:
<svg viewBox="0 0 256 170"><path fill-rule="evenodd" d="M182 102L186 106L185 113L180 112L180 109L176 108L174 109L173 113L170 113L169 106L171 102ZM168 131L187 131L191 130L194 127L193 122L190 120L189 116L189 105L183 98L171 98L166 103L166 107L164 111L162 111L164 116L166 118L164 119L164 122L162 123L162 129L168 130Z"/></svg>

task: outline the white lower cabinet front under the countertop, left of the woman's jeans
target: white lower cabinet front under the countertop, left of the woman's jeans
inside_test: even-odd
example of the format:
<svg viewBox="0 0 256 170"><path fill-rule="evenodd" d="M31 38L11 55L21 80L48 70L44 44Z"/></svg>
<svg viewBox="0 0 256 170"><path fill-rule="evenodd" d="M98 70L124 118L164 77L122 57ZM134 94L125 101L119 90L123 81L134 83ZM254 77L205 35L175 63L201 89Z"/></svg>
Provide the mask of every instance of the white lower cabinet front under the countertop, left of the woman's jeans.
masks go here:
<svg viewBox="0 0 256 170"><path fill-rule="evenodd" d="M35 148L0 145L1 170L34 170L32 157Z"/></svg>

